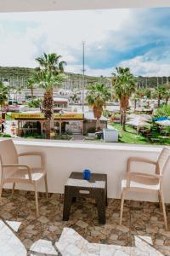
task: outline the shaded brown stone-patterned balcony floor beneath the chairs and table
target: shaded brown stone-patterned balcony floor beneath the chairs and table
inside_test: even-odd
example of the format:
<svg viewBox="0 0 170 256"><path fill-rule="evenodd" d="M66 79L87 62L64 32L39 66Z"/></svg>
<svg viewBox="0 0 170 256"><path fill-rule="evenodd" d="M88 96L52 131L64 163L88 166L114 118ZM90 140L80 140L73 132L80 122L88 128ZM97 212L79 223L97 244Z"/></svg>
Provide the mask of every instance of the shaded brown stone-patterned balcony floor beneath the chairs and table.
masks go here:
<svg viewBox="0 0 170 256"><path fill-rule="evenodd" d="M11 198L9 190L3 191L0 218L18 224L16 236L28 249L39 239L58 241L63 228L71 227L89 242L120 245L124 248L136 247L139 240L142 240L144 251L142 254L137 251L135 255L155 255L153 250L152 254L149 253L148 246L161 255L170 255L170 206L167 206L169 231L165 231L157 203L125 201L122 226L118 224L119 200L109 200L105 225L98 224L93 201L79 200L74 203L68 222L62 221L61 195L50 195L47 201L45 195L41 194L39 203L41 216L36 218L34 197L31 193L16 190ZM1 251L0 255L3 255Z"/></svg>

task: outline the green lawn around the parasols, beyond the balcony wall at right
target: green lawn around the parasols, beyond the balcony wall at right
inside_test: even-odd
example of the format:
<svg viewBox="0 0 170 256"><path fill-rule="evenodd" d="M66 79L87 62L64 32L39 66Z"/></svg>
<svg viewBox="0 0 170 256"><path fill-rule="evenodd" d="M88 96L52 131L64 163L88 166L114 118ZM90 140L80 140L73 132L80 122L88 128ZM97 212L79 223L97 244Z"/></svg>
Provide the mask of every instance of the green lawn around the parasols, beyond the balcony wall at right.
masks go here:
<svg viewBox="0 0 170 256"><path fill-rule="evenodd" d="M115 123L110 123L114 128L119 131L119 143L129 144L152 144L152 145L170 145L170 137L163 138L158 132L152 134L153 138L159 138L160 142L151 143L148 138L142 136L140 133L137 136L136 129L131 125L126 125L126 131L122 131L122 126Z"/></svg>

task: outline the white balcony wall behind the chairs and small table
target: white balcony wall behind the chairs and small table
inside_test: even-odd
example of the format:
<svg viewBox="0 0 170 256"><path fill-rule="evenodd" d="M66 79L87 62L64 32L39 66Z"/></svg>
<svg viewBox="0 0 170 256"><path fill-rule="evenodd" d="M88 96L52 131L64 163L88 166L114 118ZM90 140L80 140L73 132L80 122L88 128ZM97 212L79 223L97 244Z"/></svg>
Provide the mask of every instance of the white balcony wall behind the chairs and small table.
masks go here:
<svg viewBox="0 0 170 256"><path fill-rule="evenodd" d="M82 172L88 168L92 172L106 173L108 177L108 197L120 198L121 181L126 173L127 158L140 156L150 160L156 160L161 152L161 147L120 145L116 143L54 143L35 141L14 141L18 151L42 151L46 155L48 170L48 190L54 193L64 193L65 182L71 172ZM29 159L25 163L35 165L35 159ZM133 165L133 171L153 172L153 166L144 163ZM17 185L16 189L32 189ZM43 183L38 187L44 191ZM170 163L164 177L164 195L166 202L170 202ZM156 196L147 194L129 195L129 199L139 201L157 201Z"/></svg>

